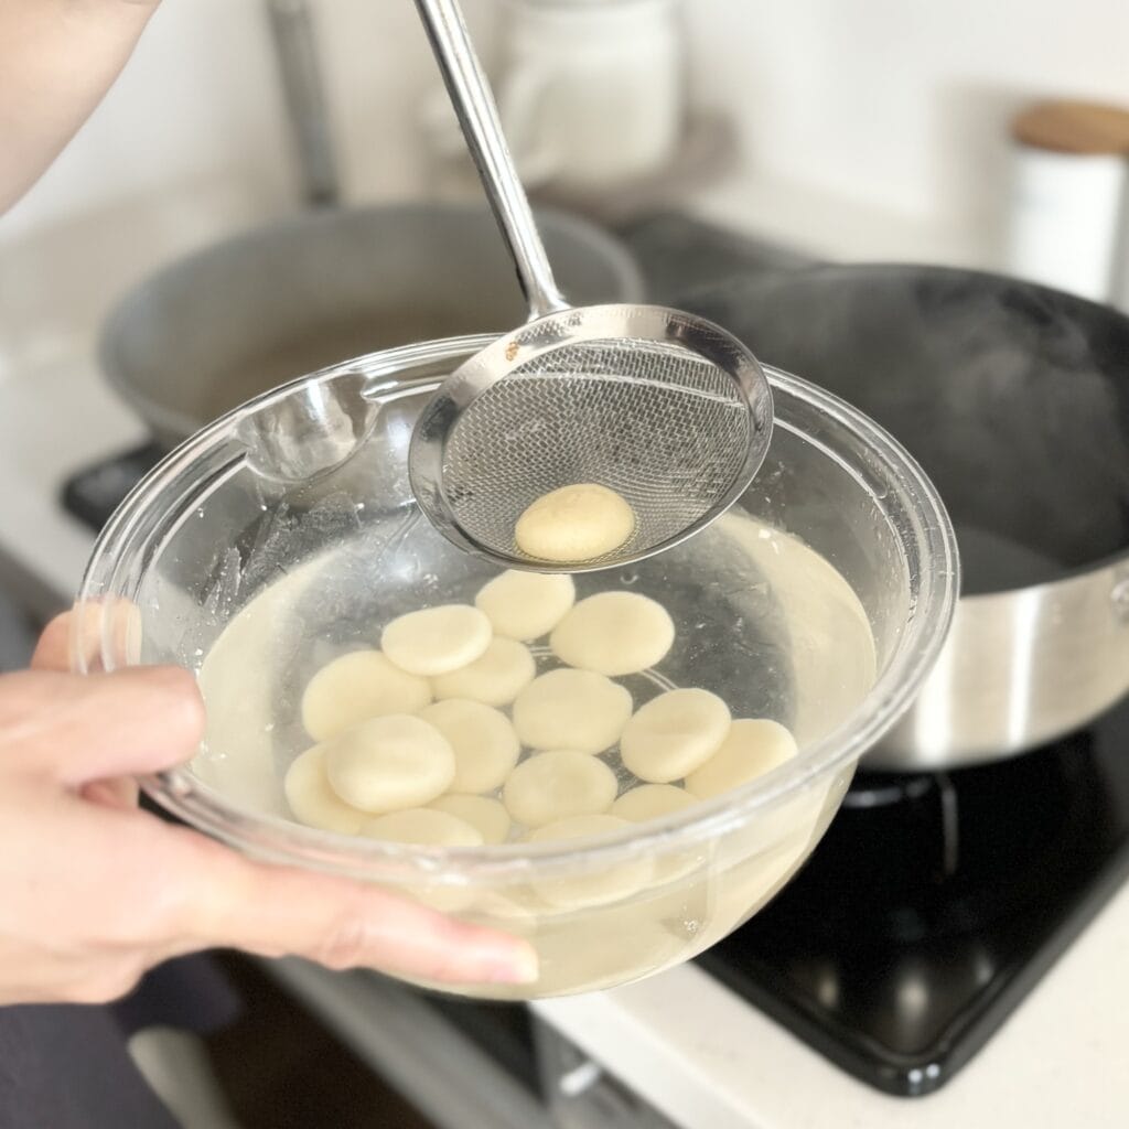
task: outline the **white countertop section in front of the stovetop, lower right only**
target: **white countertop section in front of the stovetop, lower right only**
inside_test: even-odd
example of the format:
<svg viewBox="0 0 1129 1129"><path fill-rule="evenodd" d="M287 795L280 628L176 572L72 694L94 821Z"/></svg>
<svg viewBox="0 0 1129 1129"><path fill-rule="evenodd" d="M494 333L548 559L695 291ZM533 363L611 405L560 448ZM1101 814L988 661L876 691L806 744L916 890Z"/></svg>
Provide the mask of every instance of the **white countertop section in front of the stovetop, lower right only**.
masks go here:
<svg viewBox="0 0 1129 1129"><path fill-rule="evenodd" d="M833 1067L697 965L534 1005L672 1120L693 1129L1113 1129L1129 1045L1123 887L944 1088L881 1094Z"/></svg>

